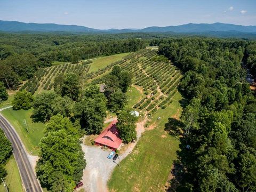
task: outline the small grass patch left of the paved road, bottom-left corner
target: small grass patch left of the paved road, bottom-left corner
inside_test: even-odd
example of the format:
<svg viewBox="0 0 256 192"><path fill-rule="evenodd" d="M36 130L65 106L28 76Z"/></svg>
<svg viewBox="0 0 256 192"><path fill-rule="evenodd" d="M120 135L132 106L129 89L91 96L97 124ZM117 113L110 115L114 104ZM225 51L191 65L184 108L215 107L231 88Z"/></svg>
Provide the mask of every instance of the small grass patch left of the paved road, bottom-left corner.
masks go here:
<svg viewBox="0 0 256 192"><path fill-rule="evenodd" d="M5 184L7 185L9 191L10 192L24 191L22 188L22 182L21 182L18 166L15 162L13 155L8 159L5 165L5 169L7 171ZM3 183L2 185L0 185L0 191L5 191Z"/></svg>

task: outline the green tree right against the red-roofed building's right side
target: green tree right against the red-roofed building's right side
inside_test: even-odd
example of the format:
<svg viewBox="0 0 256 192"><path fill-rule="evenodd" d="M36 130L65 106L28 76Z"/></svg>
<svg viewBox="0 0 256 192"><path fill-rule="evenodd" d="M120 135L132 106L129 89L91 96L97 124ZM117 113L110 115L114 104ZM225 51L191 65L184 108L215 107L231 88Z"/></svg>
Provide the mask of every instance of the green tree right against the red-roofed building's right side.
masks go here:
<svg viewBox="0 0 256 192"><path fill-rule="evenodd" d="M130 110L122 110L117 115L118 122L116 123L116 128L119 133L119 137L124 143L129 143L137 139L136 135L136 122L137 117L132 115Z"/></svg>

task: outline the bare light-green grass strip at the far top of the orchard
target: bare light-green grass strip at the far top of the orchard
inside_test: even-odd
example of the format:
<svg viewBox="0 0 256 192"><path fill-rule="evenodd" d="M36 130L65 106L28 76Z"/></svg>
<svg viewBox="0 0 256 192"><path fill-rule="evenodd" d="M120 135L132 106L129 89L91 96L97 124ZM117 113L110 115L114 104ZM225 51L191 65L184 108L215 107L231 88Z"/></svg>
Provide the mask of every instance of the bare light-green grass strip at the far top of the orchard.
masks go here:
<svg viewBox="0 0 256 192"><path fill-rule="evenodd" d="M98 69L104 68L104 67L108 66L110 63L121 60L123 57L125 57L128 54L130 54L130 53L121 53L121 54L115 54L115 55L110 55L110 56L94 59L94 60L92 60L92 63L90 64L91 68L90 68L89 72L97 71Z"/></svg>

